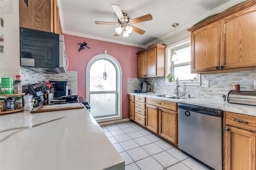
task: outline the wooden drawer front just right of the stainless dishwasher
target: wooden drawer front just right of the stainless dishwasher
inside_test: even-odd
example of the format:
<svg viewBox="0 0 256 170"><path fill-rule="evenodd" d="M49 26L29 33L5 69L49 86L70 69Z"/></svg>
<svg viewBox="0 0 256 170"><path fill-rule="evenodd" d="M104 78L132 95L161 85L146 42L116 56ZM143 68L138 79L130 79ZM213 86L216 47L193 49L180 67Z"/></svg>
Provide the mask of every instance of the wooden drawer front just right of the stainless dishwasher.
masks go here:
<svg viewBox="0 0 256 170"><path fill-rule="evenodd" d="M256 117L226 111L226 125L232 125L250 131L256 131Z"/></svg>

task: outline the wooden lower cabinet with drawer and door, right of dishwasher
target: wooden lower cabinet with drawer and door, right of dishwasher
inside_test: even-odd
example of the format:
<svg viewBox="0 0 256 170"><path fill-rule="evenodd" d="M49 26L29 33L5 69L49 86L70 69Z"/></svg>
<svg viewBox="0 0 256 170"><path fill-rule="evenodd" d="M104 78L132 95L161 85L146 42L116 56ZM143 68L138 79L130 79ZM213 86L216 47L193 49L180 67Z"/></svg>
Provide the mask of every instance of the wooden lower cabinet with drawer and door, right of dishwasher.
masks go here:
<svg viewBox="0 0 256 170"><path fill-rule="evenodd" d="M224 148L225 170L256 170L256 117L226 112Z"/></svg>

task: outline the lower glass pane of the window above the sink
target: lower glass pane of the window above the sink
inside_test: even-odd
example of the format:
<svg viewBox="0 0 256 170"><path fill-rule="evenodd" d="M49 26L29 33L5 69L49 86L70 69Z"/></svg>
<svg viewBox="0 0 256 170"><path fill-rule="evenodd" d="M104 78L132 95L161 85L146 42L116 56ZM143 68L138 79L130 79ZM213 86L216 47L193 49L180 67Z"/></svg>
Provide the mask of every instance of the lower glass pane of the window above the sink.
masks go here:
<svg viewBox="0 0 256 170"><path fill-rule="evenodd" d="M172 72L179 80L193 80L195 76L197 78L197 74L191 74L190 68L191 65L176 66L172 68ZM195 81L197 81L197 79Z"/></svg>

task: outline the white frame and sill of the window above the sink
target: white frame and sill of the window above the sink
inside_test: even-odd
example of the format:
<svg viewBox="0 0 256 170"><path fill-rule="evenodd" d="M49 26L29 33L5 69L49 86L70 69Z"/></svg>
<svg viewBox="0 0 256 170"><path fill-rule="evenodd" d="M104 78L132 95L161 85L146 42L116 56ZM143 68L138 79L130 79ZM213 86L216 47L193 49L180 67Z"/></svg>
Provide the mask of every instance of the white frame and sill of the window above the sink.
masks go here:
<svg viewBox="0 0 256 170"><path fill-rule="evenodd" d="M182 41L178 41L176 42L176 44L171 44L168 45L166 47L166 76L172 72L172 54L174 52L174 48L176 46L176 49L182 46L186 46L188 44L190 44L190 38L184 39ZM186 64L191 64L190 62L187 62ZM184 65L184 64L182 64ZM198 79L196 82L190 82L188 80L179 80L179 84L180 85L184 85L184 86L200 86L201 84L201 75L198 74ZM168 82L168 78L165 79L165 85L175 85L176 86L176 82Z"/></svg>

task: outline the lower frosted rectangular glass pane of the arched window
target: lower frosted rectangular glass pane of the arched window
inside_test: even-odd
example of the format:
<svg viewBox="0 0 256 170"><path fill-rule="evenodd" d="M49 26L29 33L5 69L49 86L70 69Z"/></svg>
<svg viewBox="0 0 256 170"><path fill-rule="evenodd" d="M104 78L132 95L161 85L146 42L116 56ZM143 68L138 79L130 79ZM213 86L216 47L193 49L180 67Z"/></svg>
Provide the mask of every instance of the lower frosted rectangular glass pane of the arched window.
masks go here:
<svg viewBox="0 0 256 170"><path fill-rule="evenodd" d="M117 115L116 94L90 94L90 107L93 117Z"/></svg>

